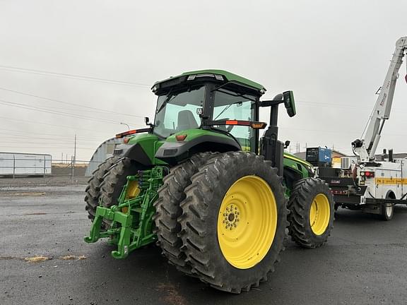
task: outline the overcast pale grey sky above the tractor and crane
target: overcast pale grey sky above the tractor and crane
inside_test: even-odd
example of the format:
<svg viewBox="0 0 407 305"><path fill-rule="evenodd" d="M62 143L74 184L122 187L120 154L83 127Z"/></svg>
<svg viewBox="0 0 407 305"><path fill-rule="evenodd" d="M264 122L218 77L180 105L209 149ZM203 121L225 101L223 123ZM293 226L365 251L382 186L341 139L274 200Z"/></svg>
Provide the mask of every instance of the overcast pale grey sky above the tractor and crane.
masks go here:
<svg viewBox="0 0 407 305"><path fill-rule="evenodd" d="M297 116L279 118L292 149L349 153L406 35L406 0L0 0L0 151L70 156L76 133L77 159L88 160L126 130L119 122L137 128L153 117L155 80L220 68L264 85L264 99L294 91ZM404 62L378 152L407 152L405 74Z"/></svg>

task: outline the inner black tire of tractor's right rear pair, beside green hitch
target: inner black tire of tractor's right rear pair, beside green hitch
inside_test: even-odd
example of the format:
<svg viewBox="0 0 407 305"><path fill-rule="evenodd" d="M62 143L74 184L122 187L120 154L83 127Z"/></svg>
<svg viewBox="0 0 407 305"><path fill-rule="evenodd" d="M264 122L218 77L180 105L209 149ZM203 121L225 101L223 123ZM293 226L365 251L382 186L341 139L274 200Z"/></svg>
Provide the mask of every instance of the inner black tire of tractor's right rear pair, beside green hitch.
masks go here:
<svg viewBox="0 0 407 305"><path fill-rule="evenodd" d="M182 239L178 237L181 226L177 219L182 214L179 203L185 198L184 190L191 184L191 176L214 155L211 152L199 153L172 167L170 174L164 178L163 186L158 190L158 199L154 203L158 245L168 261L187 274L191 273L191 267L185 262L185 254L179 249L182 246Z"/></svg>

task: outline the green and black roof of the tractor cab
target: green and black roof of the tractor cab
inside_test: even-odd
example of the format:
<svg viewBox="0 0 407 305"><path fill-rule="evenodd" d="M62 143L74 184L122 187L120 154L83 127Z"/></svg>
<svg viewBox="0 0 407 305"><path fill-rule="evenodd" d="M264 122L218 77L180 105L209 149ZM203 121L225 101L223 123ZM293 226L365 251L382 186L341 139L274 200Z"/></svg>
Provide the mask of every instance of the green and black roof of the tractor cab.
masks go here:
<svg viewBox="0 0 407 305"><path fill-rule="evenodd" d="M159 85L161 83L166 83L168 80L175 80L177 78L184 78L188 76L198 76L202 74L213 74L213 76L223 76L224 80L234 83L241 83L244 86L247 86L249 88L252 88L254 90L258 90L261 95L266 91L266 88L264 88L263 85L260 85L259 83L256 83L252 80L249 80L247 78L244 78L242 76L238 76L237 74L230 73L225 70L216 70L216 69L208 69L208 70L197 70L197 71L189 71L189 72L184 72L182 74L179 74L178 76L171 76L170 78L167 78L165 80L159 80L158 82L155 82L153 85L153 88L155 85ZM216 78L218 79L218 78Z"/></svg>

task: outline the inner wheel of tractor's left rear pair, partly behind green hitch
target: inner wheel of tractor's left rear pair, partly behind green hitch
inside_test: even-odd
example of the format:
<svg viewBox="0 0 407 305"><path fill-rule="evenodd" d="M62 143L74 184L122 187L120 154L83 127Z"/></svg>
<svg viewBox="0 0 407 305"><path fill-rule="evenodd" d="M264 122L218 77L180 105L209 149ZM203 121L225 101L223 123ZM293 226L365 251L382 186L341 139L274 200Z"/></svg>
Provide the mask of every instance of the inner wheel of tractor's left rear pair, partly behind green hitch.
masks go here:
<svg viewBox="0 0 407 305"><path fill-rule="evenodd" d="M123 186L127 182L127 176L133 176L137 174L139 170L143 169L146 169L146 167L143 167L138 162L134 162L127 157L117 160L107 171L100 184L100 203L106 208L116 205L117 199L119 199L122 193ZM132 181L127 190L127 196L136 197L139 192L138 182ZM104 222L105 221L106 220L104 220ZM105 227L109 225L110 223L106 221Z"/></svg>

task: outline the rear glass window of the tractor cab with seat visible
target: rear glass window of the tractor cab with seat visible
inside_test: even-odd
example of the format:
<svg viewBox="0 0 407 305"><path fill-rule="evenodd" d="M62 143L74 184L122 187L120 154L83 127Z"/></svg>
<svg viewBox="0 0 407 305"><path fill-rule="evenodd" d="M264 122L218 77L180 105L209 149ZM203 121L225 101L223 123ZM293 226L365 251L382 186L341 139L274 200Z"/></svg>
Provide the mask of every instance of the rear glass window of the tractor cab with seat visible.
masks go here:
<svg viewBox="0 0 407 305"><path fill-rule="evenodd" d="M160 95L155 111L154 133L167 138L178 131L199 128L201 118L197 109L204 107L204 99L204 85Z"/></svg>

